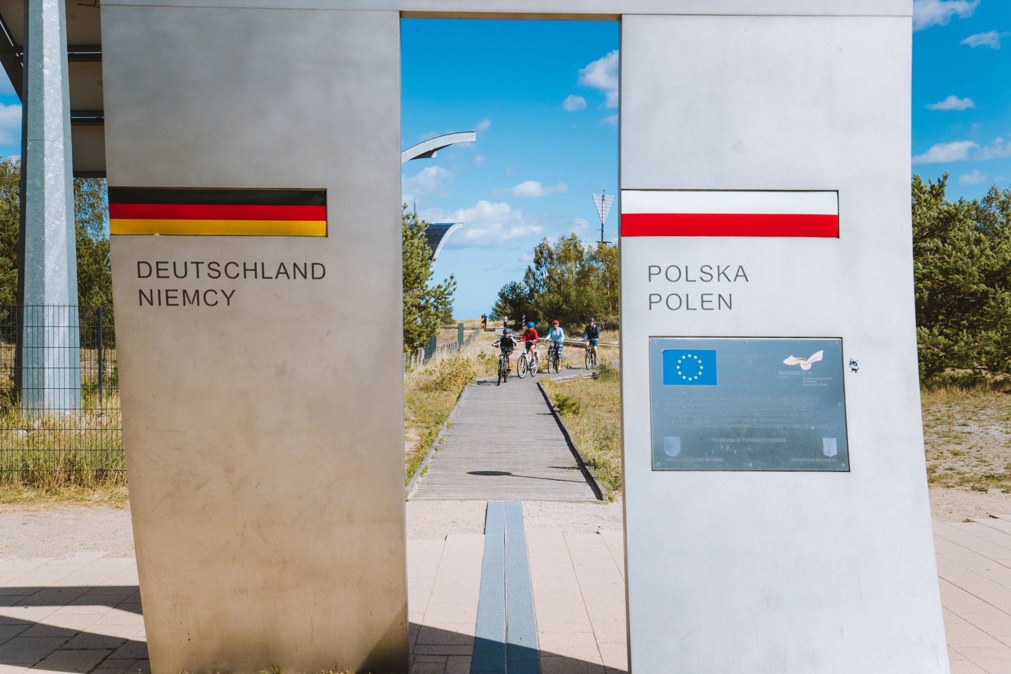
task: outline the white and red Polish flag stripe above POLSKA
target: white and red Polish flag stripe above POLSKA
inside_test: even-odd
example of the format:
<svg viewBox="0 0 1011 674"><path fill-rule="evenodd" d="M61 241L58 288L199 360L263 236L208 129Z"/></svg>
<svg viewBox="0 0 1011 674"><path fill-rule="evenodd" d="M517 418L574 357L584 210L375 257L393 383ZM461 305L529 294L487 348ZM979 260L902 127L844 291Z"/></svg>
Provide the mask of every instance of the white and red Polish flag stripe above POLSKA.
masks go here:
<svg viewBox="0 0 1011 674"><path fill-rule="evenodd" d="M839 235L839 193L622 190L622 236Z"/></svg>

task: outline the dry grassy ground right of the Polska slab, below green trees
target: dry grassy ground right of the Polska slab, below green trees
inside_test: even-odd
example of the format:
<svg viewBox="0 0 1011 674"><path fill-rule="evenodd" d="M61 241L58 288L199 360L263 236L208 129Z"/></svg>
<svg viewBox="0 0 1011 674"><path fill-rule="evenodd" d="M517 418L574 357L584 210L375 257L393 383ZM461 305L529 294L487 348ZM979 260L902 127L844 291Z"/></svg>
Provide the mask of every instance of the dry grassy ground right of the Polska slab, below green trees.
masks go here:
<svg viewBox="0 0 1011 674"><path fill-rule="evenodd" d="M1002 389L952 382L922 391L932 485L1011 493L1011 395Z"/></svg>

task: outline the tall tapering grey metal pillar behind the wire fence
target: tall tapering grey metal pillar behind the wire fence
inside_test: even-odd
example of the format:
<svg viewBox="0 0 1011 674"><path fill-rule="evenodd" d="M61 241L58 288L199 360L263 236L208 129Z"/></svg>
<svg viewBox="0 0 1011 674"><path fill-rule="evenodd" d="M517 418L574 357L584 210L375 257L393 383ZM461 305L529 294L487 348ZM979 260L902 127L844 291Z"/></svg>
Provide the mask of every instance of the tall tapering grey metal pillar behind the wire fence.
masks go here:
<svg viewBox="0 0 1011 674"><path fill-rule="evenodd" d="M65 0L24 3L18 304L21 406L81 407Z"/></svg>

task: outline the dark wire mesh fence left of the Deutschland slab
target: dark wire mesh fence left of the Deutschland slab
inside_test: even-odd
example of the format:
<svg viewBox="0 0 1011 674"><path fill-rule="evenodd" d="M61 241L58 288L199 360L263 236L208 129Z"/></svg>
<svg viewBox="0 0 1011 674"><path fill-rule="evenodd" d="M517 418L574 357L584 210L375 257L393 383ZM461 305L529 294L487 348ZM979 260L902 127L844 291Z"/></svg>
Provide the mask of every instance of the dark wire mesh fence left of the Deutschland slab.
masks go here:
<svg viewBox="0 0 1011 674"><path fill-rule="evenodd" d="M111 306L0 306L0 483L125 483Z"/></svg>

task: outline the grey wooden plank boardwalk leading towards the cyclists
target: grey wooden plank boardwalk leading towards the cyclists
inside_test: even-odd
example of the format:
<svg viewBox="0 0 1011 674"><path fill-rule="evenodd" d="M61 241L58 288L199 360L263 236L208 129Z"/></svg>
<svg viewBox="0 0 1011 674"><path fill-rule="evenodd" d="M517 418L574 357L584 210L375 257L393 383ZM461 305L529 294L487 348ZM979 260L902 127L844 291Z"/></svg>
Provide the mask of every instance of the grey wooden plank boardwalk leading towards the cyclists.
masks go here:
<svg viewBox="0 0 1011 674"><path fill-rule="evenodd" d="M452 423L409 498L596 500L535 378L478 380Z"/></svg>

